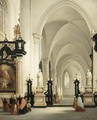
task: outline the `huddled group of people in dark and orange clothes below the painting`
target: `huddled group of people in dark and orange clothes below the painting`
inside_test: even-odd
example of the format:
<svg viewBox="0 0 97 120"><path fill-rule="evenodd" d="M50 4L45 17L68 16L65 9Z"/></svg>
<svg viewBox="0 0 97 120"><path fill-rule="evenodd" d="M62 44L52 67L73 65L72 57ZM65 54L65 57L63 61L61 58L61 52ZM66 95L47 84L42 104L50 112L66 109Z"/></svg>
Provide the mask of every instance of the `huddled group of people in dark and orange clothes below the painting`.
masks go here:
<svg viewBox="0 0 97 120"><path fill-rule="evenodd" d="M25 114L31 111L30 101L27 102L24 96L11 97L10 99L4 98L2 102L3 111L10 112L13 115Z"/></svg>

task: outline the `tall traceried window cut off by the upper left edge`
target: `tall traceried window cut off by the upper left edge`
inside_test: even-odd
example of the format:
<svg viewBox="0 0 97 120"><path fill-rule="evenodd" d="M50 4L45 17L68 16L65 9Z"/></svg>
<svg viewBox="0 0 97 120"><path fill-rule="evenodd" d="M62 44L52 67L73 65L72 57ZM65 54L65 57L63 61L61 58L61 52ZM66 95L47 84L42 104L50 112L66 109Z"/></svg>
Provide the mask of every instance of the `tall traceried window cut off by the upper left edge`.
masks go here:
<svg viewBox="0 0 97 120"><path fill-rule="evenodd" d="M4 32L6 16L7 16L7 4L5 0L0 0L0 31Z"/></svg>

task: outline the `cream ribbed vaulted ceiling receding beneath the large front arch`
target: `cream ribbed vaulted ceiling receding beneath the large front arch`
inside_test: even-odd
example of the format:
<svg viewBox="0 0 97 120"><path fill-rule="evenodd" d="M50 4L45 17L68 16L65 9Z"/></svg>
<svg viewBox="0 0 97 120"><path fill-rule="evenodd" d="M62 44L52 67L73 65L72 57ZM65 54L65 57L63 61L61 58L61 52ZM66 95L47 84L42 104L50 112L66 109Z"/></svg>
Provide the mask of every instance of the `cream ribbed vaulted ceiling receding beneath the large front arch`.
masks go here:
<svg viewBox="0 0 97 120"><path fill-rule="evenodd" d="M47 55L58 73L70 66L80 72L90 68L92 40L86 21L75 9L69 6L57 9L47 20L43 36Z"/></svg>

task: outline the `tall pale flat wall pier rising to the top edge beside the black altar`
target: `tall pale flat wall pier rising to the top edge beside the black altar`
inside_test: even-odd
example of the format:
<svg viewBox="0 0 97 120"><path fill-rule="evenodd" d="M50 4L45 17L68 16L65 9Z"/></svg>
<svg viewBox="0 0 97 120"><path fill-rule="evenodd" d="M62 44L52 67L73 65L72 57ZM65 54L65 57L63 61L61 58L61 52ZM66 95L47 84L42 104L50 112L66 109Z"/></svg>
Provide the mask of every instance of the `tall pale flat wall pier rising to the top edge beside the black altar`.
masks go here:
<svg viewBox="0 0 97 120"><path fill-rule="evenodd" d="M22 86L23 86L23 93L25 93L26 90L26 78L28 74L33 75L33 40L32 40L32 27L31 27L31 0L20 0L20 31L21 36L25 40L25 51L27 54L25 57L23 57L22 61Z"/></svg>

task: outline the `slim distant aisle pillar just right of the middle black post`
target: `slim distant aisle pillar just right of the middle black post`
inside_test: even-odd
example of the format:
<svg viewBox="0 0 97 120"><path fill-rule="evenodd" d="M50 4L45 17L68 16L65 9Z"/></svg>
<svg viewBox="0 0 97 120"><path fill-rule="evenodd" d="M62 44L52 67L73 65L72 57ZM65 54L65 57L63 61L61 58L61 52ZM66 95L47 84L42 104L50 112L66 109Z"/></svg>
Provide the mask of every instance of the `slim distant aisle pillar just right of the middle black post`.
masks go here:
<svg viewBox="0 0 97 120"><path fill-rule="evenodd" d="M51 70L51 76L53 79L53 94L57 93L57 83L56 83L56 70L52 69Z"/></svg>

